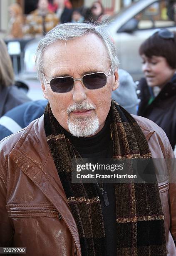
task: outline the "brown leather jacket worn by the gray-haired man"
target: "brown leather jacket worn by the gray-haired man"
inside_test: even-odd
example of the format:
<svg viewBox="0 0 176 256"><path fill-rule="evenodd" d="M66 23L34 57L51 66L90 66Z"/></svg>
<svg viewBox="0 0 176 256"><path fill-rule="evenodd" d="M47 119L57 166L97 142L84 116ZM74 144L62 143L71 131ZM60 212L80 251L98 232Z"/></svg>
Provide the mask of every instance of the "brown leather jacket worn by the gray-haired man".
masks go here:
<svg viewBox="0 0 176 256"><path fill-rule="evenodd" d="M161 128L145 118L135 119L153 157L173 158ZM165 160L162 168L173 171ZM176 184L166 179L159 191L168 255L174 256L169 229L176 238ZM0 143L0 246L26 247L27 256L81 256L77 225L47 145L43 116Z"/></svg>

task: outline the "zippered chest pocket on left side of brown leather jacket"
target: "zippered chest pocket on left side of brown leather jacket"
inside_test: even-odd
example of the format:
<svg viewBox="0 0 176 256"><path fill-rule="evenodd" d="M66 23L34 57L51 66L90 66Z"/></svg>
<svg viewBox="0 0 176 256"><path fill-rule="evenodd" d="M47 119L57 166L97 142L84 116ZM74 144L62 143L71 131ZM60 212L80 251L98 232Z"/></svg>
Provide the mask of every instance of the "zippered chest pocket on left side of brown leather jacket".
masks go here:
<svg viewBox="0 0 176 256"><path fill-rule="evenodd" d="M54 217L62 219L52 204L9 204L6 205L6 209L10 218Z"/></svg>

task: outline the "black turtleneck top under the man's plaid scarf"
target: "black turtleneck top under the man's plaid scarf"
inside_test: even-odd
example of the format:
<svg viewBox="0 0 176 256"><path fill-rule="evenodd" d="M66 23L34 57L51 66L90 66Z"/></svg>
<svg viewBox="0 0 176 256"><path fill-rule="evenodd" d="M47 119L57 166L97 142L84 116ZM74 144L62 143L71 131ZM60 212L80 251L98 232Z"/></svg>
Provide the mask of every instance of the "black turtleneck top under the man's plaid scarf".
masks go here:
<svg viewBox="0 0 176 256"><path fill-rule="evenodd" d="M110 130L109 117L106 120L104 127L99 133L92 137L77 138L71 133L64 130L65 136L77 149L82 158L112 158L113 157L113 143ZM99 195L102 214L104 220L104 229L107 243L107 256L117 254L117 224L116 224L116 200L114 184L103 183L103 189L107 192L109 206L105 206L102 196L102 184L95 184L97 193Z"/></svg>

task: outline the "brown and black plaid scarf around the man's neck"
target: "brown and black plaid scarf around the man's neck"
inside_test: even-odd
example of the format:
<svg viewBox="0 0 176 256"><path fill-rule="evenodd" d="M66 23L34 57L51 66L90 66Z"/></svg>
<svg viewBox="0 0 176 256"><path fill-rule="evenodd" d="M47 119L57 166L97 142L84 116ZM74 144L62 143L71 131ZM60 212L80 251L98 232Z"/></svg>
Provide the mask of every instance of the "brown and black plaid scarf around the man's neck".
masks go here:
<svg viewBox="0 0 176 256"><path fill-rule="evenodd" d="M112 101L111 133L114 159L149 159L149 145L134 118ZM71 182L71 159L80 157L48 103L45 133L72 215L77 224L82 256L106 256L102 209L95 184ZM166 238L158 185L114 184L117 215L117 255L164 256Z"/></svg>

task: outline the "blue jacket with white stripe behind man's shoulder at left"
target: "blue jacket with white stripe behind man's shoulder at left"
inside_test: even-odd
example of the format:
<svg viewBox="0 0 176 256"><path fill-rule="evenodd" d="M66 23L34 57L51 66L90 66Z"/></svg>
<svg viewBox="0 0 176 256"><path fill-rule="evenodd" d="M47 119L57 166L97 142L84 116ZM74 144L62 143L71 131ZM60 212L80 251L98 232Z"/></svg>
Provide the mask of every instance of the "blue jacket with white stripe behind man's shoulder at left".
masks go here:
<svg viewBox="0 0 176 256"><path fill-rule="evenodd" d="M47 100L26 102L13 108L0 118L0 141L25 128L33 120L40 118L47 105Z"/></svg>

